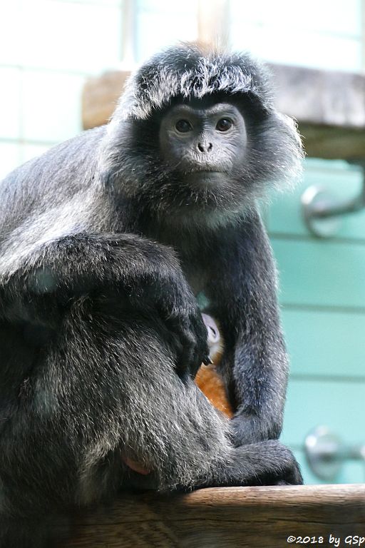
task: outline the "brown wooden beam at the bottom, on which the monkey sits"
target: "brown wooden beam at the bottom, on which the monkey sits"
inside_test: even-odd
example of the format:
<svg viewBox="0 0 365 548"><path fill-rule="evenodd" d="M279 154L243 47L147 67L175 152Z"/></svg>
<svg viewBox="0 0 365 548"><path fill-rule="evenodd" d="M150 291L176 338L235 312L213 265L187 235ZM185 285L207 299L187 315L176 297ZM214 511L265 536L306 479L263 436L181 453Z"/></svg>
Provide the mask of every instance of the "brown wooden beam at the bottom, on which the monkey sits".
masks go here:
<svg viewBox="0 0 365 548"><path fill-rule="evenodd" d="M365 537L364 484L129 494L80 514L65 548L283 548L290 535L327 547L330 534L341 547L347 535Z"/></svg>

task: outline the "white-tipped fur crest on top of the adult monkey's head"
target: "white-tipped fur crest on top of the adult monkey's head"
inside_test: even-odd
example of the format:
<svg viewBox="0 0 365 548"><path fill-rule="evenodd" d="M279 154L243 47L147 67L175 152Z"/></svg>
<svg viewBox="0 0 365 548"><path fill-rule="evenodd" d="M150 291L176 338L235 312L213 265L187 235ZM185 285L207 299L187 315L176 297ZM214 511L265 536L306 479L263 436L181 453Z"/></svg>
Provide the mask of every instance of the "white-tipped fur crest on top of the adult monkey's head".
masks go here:
<svg viewBox="0 0 365 548"><path fill-rule="evenodd" d="M180 44L156 54L130 76L115 118L145 119L173 97L202 98L220 92L252 93L263 108L273 108L267 69L249 54Z"/></svg>

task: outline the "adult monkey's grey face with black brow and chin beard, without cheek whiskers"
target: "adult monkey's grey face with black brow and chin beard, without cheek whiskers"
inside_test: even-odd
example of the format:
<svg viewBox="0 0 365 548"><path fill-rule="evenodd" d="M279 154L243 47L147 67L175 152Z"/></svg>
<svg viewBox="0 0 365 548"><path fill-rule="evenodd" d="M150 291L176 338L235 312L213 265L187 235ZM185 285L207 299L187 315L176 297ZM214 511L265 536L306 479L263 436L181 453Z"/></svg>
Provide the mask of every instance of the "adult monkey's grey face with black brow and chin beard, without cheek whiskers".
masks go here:
<svg viewBox="0 0 365 548"><path fill-rule="evenodd" d="M168 108L156 143L160 210L189 222L242 209L250 190L248 142L245 118L233 101L205 97Z"/></svg>

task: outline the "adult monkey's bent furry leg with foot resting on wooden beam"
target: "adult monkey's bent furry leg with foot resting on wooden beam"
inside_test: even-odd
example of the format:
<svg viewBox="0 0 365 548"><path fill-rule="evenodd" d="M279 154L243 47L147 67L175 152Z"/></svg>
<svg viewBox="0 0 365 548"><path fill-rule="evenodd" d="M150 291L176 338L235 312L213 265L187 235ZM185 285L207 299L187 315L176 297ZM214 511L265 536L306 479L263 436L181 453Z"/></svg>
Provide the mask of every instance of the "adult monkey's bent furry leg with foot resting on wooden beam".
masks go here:
<svg viewBox="0 0 365 548"><path fill-rule="evenodd" d="M0 432L1 548L41 547L43 514L111 497L127 480L143 487L151 478L124 455L160 490L300 482L278 442L232 447L230 422L176 374L163 321L124 305L74 300L23 390L14 386Z"/></svg>

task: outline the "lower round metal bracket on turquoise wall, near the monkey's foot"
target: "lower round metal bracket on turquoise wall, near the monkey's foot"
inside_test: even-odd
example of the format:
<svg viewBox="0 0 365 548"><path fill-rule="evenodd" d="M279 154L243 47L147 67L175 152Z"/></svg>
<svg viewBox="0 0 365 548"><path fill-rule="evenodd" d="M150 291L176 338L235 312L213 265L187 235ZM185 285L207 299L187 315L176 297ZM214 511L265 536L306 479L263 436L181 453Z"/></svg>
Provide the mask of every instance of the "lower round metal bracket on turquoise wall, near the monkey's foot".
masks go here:
<svg viewBox="0 0 365 548"><path fill-rule="evenodd" d="M346 460L363 460L365 444L345 445L327 426L317 426L304 440L304 452L312 472L321 480L334 480Z"/></svg>

